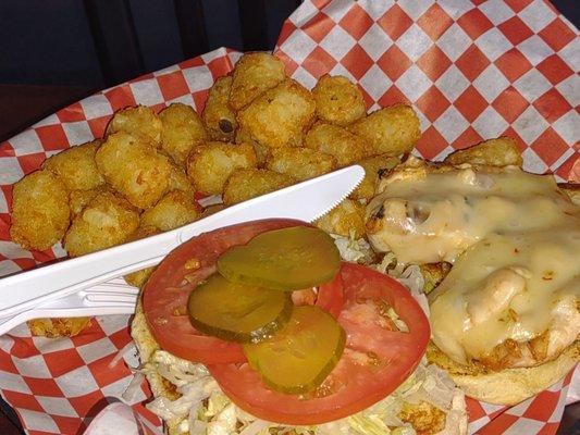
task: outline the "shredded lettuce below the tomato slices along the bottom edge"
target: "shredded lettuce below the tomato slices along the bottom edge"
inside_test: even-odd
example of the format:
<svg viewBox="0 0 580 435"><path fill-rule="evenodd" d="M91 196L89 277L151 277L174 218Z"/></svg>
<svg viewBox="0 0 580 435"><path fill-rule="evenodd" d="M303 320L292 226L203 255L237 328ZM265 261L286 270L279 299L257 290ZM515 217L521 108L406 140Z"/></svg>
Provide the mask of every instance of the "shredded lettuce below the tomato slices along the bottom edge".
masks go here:
<svg viewBox="0 0 580 435"><path fill-rule="evenodd" d="M404 402L420 401L432 403L447 413L448 434L458 434L457 421L465 418L461 407L454 413L454 401L460 390L443 370L425 362L421 362L393 394L363 411L316 426L286 426L257 419L237 408L207 374L202 364L182 360L162 350L157 352L161 355L153 355L145 370L157 370L157 373L169 374L174 380L190 381L177 387L182 394L178 399L158 397L147 408L165 421L183 418L180 428L189 435L414 435L415 430L402 422L398 414Z"/></svg>

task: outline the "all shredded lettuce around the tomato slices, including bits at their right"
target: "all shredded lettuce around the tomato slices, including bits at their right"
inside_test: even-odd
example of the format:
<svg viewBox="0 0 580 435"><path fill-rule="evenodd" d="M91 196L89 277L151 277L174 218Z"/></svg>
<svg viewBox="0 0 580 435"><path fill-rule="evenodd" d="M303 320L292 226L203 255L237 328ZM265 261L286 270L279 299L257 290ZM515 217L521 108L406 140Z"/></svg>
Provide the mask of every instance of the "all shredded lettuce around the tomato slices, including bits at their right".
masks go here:
<svg viewBox="0 0 580 435"><path fill-rule="evenodd" d="M400 281L428 312L424 284L418 266L397 263L386 254L379 263L365 239L333 236L343 259L367 264ZM407 325L394 310L387 315L399 330ZM143 372L160 374L177 387L176 400L158 397L147 408L165 421L182 418L180 430L189 435L415 435L415 430L398 418L403 405L425 401L445 411L443 433L464 433L467 420L462 391L447 373L421 361L416 371L394 393L378 403L345 419L316 426L289 426L268 422L237 408L209 375L202 364L182 360L162 350L156 351Z"/></svg>

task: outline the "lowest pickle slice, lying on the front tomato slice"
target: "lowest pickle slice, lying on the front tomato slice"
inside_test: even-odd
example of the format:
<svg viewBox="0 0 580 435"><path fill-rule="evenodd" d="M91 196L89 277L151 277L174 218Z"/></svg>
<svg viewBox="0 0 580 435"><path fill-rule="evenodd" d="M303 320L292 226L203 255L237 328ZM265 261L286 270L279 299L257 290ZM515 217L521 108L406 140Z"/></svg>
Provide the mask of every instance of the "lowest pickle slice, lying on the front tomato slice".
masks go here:
<svg viewBox="0 0 580 435"><path fill-rule="evenodd" d="M289 322L266 341L243 345L250 366L270 388L303 394L318 387L343 355L346 334L332 315L295 307Z"/></svg>

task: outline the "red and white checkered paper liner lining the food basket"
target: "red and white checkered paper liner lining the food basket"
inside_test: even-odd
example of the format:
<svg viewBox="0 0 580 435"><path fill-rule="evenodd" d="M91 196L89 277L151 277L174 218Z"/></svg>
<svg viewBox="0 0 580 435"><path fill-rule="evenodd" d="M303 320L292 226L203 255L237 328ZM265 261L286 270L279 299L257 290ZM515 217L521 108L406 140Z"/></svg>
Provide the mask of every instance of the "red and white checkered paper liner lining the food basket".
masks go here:
<svg viewBox="0 0 580 435"><path fill-rule="evenodd" d="M370 109L411 103L425 158L507 134L528 170L560 179L577 171L580 38L545 1L307 0L285 23L275 53L306 86L343 74L359 84ZM0 275L64 254L60 246L28 252L10 241L14 182L48 156L100 137L126 105L181 101L200 111L208 88L238 57L220 49L98 92L0 144ZM73 338L30 337L25 325L0 337L0 393L29 434L78 434L121 397L136 357L110 363L131 341L127 322L98 318ZM570 378L507 409L468 400L470 432L554 434ZM149 395L143 385L131 405L152 430L159 421L140 405Z"/></svg>

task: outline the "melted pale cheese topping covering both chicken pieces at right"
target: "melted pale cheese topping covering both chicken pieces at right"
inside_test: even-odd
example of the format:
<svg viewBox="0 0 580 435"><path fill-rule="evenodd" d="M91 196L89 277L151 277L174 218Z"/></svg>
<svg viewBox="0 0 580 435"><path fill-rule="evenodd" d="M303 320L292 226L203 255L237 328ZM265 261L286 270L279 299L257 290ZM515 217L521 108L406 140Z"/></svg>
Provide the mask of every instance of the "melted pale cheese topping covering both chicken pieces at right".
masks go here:
<svg viewBox="0 0 580 435"><path fill-rule="evenodd" d="M460 363L546 331L550 358L580 334L580 208L551 176L503 171L414 169L383 181L367 209L375 249L455 263L430 295L431 322ZM520 357L514 365L538 363Z"/></svg>

